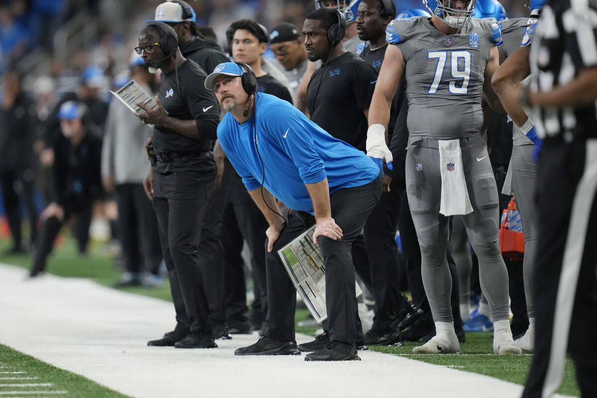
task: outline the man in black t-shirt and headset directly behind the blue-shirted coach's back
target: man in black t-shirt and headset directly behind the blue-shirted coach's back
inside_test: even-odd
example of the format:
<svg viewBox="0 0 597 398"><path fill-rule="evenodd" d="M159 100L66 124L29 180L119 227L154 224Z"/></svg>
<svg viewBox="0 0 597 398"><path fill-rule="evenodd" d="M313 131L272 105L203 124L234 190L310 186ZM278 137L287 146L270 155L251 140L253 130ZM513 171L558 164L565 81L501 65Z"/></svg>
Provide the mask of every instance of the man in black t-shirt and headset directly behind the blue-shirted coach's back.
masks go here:
<svg viewBox="0 0 597 398"><path fill-rule="evenodd" d="M321 60L307 88L307 108L311 120L356 149L365 152L367 140L367 113L377 81L377 72L367 62L344 50L337 41L330 41L328 30L338 23L338 11L319 8L306 17L303 24L304 44L310 61ZM371 287L371 270L365 241L359 235L352 242L352 256L356 273L368 289ZM355 305L356 306L356 305ZM353 319L347 319L347 324ZM301 351L315 351L329 342L324 324L324 334L310 343L298 345ZM357 347L364 349L362 328L356 318Z"/></svg>

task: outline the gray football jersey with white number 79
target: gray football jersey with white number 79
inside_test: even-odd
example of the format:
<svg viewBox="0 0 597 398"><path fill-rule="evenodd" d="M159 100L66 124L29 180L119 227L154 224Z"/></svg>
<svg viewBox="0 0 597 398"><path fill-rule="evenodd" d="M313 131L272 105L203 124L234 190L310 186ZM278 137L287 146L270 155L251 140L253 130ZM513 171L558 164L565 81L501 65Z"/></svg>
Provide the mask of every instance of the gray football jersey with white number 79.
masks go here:
<svg viewBox="0 0 597 398"><path fill-rule="evenodd" d="M426 17L393 20L386 41L406 63L411 136L447 140L481 131L485 66L491 47L501 45L495 22L473 18L460 33L445 35Z"/></svg>

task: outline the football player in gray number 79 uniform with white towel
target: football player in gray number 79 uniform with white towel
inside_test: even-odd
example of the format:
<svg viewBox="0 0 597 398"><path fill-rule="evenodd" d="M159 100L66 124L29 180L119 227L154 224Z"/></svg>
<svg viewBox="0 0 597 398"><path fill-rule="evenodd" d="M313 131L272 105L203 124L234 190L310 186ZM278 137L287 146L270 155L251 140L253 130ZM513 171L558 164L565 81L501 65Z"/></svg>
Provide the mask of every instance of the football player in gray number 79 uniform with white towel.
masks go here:
<svg viewBox="0 0 597 398"><path fill-rule="evenodd" d="M431 18L395 20L371 101L369 129L384 131L404 76L408 98L407 195L436 335L413 353L456 353L446 261L450 215L463 215L479 258L481 286L494 321L496 354L520 354L512 340L506 265L498 245L496 180L480 134L481 97L503 112L491 88L500 29L471 20L476 0L426 0ZM370 133L368 133L370 136Z"/></svg>

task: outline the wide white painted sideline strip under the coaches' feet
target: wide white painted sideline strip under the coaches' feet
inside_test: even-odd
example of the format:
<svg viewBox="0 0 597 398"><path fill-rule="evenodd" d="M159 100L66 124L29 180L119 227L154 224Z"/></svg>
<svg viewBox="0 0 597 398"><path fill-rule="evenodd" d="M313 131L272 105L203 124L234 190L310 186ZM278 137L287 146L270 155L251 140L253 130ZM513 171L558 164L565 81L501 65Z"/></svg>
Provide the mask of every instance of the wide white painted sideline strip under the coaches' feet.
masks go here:
<svg viewBox="0 0 597 398"><path fill-rule="evenodd" d="M91 280L51 274L25 280L26 274L0 264L0 343L131 397L386 398L400 391L421 398L477 398L484 391L484 398L518 398L522 393L522 385L374 351L359 352L362 361L341 363L233 354L255 343L257 334L219 340L220 348L211 350L147 347L148 340L172 330L172 303ZM297 334L297 343L310 340Z"/></svg>

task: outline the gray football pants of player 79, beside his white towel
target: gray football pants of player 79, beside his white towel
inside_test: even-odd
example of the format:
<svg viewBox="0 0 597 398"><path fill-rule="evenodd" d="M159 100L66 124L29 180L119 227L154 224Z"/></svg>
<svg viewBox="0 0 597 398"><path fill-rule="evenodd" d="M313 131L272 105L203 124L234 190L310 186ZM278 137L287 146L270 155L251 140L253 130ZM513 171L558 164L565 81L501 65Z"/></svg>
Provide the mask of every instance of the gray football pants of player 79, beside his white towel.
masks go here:
<svg viewBox="0 0 597 398"><path fill-rule="evenodd" d="M415 138L415 137L413 137ZM446 260L449 218L439 214L441 167L438 141L411 138L406 159L408 204L421 248L423 285L435 322L453 322L450 307L452 280ZM463 215L464 227L479 259L481 289L491 317L508 319L510 304L506 264L497 239L498 196L485 140L461 138L464 178L473 212ZM417 171L417 165L420 170Z"/></svg>

